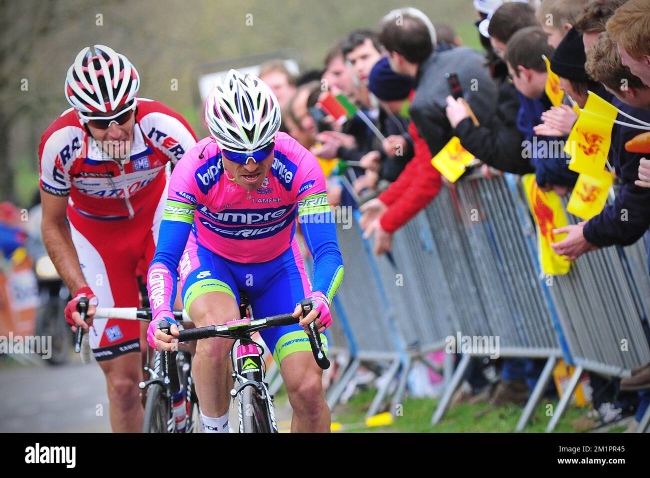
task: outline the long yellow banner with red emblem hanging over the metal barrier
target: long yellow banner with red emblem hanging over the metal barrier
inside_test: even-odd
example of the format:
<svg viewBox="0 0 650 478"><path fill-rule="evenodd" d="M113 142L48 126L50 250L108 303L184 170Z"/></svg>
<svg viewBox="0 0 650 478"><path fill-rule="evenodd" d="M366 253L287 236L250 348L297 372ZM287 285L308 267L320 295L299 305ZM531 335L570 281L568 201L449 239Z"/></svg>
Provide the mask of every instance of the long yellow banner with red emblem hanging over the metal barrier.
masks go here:
<svg viewBox="0 0 650 478"><path fill-rule="evenodd" d="M558 256L551 247L551 243L557 243L566 237L566 234L553 233L554 229L568 224L560 197L552 191L546 193L539 189L534 174L526 174L521 181L528 207L537 225L537 250L541 271L552 276L566 274L571 262L565 260L566 256Z"/></svg>

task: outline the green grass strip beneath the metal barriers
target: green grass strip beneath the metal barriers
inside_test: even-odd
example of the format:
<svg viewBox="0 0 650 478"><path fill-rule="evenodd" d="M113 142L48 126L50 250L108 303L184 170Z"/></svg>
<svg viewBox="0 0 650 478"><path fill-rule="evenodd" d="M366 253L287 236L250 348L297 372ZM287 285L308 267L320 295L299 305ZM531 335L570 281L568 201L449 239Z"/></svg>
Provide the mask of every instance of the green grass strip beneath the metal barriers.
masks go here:
<svg viewBox="0 0 650 478"><path fill-rule="evenodd" d="M350 425L361 424L364 421L374 390L361 392L346 404L339 405L333 413L332 421L339 421L346 431L356 432L513 432L523 408L508 406L491 408L487 403L479 405L457 405L448 408L447 414L437 425L430 425L437 399L407 398L402 403L402 416L396 416L392 425L377 428L365 426L354 427ZM556 403L552 403L556 406ZM525 428L525 432L544 432L551 419L545 414L545 404L539 405ZM571 425L573 419L579 418L587 411L570 405L565 410L562 419L555 428L555 432L576 432ZM623 427L616 427L612 431L622 431Z"/></svg>

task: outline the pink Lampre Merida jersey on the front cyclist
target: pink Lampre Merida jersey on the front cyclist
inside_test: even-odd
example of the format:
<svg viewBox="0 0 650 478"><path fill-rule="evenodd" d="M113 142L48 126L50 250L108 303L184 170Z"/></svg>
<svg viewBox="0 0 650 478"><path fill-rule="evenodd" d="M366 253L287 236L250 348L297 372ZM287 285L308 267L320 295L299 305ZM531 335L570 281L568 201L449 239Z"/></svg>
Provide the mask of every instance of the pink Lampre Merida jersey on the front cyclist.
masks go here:
<svg viewBox="0 0 650 478"><path fill-rule="evenodd" d="M286 133L278 133L272 166L250 194L228 179L220 161L216 142L200 140L174 169L166 209L174 214L179 212L174 203L196 206L196 240L219 256L240 263L270 261L291 245L298 200L316 195L305 206L329 211L320 165Z"/></svg>

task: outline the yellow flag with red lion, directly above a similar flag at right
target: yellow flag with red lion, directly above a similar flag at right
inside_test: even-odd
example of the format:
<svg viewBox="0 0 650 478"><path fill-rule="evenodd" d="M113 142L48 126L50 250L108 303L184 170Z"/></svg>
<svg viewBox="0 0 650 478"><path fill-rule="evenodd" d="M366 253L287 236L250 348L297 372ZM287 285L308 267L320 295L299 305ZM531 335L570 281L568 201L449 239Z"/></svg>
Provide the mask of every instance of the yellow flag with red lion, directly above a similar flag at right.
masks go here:
<svg viewBox="0 0 650 478"><path fill-rule="evenodd" d="M571 155L570 170L592 178L603 176L617 114L616 107L597 94L589 94L564 146L564 152Z"/></svg>

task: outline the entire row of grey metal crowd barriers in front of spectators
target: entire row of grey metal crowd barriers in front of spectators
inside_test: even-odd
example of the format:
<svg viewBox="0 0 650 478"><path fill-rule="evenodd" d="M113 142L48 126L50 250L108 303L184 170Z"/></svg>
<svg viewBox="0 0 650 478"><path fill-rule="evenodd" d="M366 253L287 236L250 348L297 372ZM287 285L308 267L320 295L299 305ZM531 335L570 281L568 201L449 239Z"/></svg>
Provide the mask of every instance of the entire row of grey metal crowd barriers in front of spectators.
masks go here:
<svg viewBox="0 0 650 478"><path fill-rule="evenodd" d="M569 216L570 222L577 222ZM358 219L358 213L356 216ZM441 192L398 230L393 250L379 258L357 222L337 221L345 278L335 297L330 354L346 356L346 369L328 391L333 408L364 365L386 371L368 415L399 377L399 403L415 360L461 336L499 337L503 357L542 358L546 365L517 423L525 427L552 377L558 358L576 365L569 390L549 422L562 416L582 371L612 377L650 362L640 319L650 315L645 248L605 248L582 256L565 276L539 273L534 225L515 177L467 178ZM625 339L627 350L621 350ZM623 347L625 349L625 347ZM469 360L463 353L432 418L437 423L461 384ZM395 410L395 406L391 407Z"/></svg>

